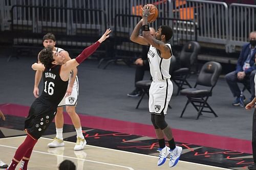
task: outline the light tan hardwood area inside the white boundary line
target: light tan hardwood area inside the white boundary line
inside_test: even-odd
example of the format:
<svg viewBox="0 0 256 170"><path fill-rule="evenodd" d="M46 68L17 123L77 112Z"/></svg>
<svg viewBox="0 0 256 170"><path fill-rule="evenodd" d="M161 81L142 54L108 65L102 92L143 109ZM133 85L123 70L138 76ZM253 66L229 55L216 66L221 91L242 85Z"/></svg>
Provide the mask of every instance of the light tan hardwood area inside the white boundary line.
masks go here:
<svg viewBox="0 0 256 170"><path fill-rule="evenodd" d="M25 136L0 139L1 155L4 155L3 160L5 162L10 161L17 146L24 139ZM162 166L157 167L156 156L95 147L93 145L87 145L82 151L73 151L75 143L69 141L65 141L65 147L47 148L47 143L49 142L51 142L49 138L42 137L39 139L33 150L29 169L57 169L58 164L65 159L72 160L76 164L77 169L86 170L168 169L168 160ZM180 161L172 169L224 170L226 168Z"/></svg>

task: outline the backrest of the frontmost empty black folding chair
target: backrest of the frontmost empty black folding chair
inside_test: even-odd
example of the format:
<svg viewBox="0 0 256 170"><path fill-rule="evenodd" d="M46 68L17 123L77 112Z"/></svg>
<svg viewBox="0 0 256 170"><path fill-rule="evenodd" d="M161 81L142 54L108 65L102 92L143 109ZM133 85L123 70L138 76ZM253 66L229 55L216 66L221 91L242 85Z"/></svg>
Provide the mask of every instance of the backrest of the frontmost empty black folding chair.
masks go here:
<svg viewBox="0 0 256 170"><path fill-rule="evenodd" d="M196 85L214 87L221 74L222 66L215 61L209 61L203 65L199 76L197 78Z"/></svg>

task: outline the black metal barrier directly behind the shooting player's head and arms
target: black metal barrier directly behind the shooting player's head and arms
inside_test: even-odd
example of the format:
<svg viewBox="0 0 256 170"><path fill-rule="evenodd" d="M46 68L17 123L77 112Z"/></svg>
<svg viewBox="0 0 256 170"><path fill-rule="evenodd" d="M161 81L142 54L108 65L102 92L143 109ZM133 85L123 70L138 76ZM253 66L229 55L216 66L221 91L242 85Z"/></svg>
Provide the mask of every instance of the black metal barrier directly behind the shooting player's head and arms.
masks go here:
<svg viewBox="0 0 256 170"><path fill-rule="evenodd" d="M141 55L143 45L130 40L130 36L140 19L141 16L137 15L117 14L115 16L114 53L109 58L103 58L98 67L103 61L107 61L103 68L116 61L123 61L129 65ZM188 41L197 41L197 26L194 21L158 18L156 22L151 23L150 27L158 28L161 25L168 25L173 29L174 36L169 40L172 45L182 46Z"/></svg>

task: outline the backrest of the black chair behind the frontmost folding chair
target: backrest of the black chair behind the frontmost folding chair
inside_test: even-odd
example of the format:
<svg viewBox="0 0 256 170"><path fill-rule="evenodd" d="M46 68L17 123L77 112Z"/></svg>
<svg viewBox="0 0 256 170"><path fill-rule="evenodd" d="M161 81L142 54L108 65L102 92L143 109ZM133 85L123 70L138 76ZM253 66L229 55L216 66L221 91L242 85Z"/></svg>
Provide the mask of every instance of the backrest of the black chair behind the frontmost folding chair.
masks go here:
<svg viewBox="0 0 256 170"><path fill-rule="evenodd" d="M179 57L181 67L190 68L195 64L200 48L200 44L196 41L188 41L185 43Z"/></svg>

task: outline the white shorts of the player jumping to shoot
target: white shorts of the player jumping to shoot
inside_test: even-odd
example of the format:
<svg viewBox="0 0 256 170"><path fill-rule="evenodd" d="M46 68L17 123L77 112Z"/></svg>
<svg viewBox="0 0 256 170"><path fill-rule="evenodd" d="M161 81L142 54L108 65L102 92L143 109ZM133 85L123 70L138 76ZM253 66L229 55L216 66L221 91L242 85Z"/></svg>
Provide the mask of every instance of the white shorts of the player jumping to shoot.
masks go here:
<svg viewBox="0 0 256 170"><path fill-rule="evenodd" d="M151 114L166 115L170 98L173 94L173 83L170 79L153 81L150 86L148 108Z"/></svg>

